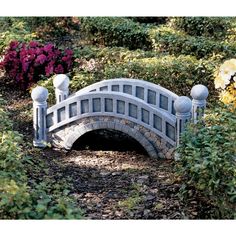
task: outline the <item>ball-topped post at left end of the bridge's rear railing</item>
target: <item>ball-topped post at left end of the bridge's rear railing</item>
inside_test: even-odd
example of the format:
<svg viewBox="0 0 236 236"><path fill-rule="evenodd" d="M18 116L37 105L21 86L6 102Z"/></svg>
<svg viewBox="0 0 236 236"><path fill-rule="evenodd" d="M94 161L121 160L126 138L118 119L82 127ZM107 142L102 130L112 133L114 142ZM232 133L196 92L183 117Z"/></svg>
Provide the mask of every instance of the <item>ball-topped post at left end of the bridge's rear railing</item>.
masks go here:
<svg viewBox="0 0 236 236"><path fill-rule="evenodd" d="M65 74L59 74L55 76L53 85L55 87L57 103L67 99L69 95L69 82L69 77Z"/></svg>

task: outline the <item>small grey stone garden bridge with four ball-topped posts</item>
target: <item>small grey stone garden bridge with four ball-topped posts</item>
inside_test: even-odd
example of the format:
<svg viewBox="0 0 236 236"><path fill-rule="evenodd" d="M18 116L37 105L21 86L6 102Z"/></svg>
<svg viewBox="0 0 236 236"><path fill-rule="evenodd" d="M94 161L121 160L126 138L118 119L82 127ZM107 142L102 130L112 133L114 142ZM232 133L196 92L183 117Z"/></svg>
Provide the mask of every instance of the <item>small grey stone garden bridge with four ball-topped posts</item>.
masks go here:
<svg viewBox="0 0 236 236"><path fill-rule="evenodd" d="M69 95L69 78L57 75L57 103L47 108L48 92L32 91L34 145L71 149L82 135L94 130L121 131L139 142L151 157L172 158L187 121L203 115L208 90L196 85L188 97L150 82L111 79L92 84Z"/></svg>

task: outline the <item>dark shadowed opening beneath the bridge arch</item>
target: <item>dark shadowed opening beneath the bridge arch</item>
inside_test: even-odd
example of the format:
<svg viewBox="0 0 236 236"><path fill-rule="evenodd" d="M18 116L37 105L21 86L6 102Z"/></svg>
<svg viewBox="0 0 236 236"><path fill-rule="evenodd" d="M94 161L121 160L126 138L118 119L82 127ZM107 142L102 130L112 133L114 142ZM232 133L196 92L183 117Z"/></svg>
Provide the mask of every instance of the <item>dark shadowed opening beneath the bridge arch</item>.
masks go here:
<svg viewBox="0 0 236 236"><path fill-rule="evenodd" d="M112 129L97 129L80 136L73 144L74 150L134 151L148 155L144 147L128 134Z"/></svg>

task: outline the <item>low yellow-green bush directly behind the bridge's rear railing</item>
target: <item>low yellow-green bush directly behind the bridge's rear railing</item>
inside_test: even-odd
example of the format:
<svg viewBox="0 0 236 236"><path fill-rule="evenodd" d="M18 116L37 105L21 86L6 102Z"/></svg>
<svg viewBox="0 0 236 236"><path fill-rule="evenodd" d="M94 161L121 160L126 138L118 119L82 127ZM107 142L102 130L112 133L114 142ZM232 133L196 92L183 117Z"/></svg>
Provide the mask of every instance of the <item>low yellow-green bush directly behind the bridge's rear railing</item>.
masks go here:
<svg viewBox="0 0 236 236"><path fill-rule="evenodd" d="M143 79L160 84L179 95L187 95L192 86L198 83L206 85L212 91L214 85L211 76L214 68L213 63L191 56L164 56L106 65L103 78Z"/></svg>

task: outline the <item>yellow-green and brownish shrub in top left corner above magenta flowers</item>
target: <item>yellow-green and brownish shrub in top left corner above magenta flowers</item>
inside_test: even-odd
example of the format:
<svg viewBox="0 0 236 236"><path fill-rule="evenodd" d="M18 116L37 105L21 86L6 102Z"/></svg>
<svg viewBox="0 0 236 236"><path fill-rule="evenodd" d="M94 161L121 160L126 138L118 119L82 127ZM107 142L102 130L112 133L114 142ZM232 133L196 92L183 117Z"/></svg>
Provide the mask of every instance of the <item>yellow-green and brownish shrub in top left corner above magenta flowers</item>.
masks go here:
<svg viewBox="0 0 236 236"><path fill-rule="evenodd" d="M41 43L71 38L79 32L77 17L0 17L0 53L11 41ZM57 39L60 38L58 41Z"/></svg>

